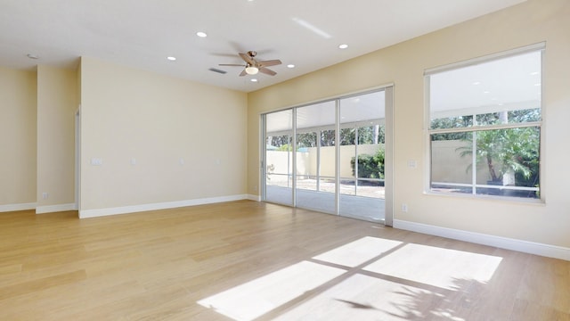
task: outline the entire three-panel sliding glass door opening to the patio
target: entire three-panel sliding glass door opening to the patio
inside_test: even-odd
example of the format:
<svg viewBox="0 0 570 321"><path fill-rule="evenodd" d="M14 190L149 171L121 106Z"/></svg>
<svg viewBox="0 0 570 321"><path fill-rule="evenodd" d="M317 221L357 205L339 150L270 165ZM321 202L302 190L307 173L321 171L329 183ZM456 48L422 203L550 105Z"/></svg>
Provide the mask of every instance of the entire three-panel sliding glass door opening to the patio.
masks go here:
<svg viewBox="0 0 570 321"><path fill-rule="evenodd" d="M386 115L391 90L263 115L262 199L384 221L390 192Z"/></svg>

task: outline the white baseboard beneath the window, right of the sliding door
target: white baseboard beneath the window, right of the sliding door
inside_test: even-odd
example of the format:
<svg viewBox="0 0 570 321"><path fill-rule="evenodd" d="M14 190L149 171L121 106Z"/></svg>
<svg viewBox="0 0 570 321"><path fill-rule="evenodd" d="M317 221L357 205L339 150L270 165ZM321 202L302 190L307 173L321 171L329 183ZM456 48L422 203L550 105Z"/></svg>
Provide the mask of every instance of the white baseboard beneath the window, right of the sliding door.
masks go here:
<svg viewBox="0 0 570 321"><path fill-rule="evenodd" d="M400 219L394 220L394 227L427 235L442 236L454 240L484 244L501 249L541 255L549 258L570 260L570 248L557 245L533 243L523 240L511 239L508 237L485 235L447 227L431 226L421 223L404 221Z"/></svg>

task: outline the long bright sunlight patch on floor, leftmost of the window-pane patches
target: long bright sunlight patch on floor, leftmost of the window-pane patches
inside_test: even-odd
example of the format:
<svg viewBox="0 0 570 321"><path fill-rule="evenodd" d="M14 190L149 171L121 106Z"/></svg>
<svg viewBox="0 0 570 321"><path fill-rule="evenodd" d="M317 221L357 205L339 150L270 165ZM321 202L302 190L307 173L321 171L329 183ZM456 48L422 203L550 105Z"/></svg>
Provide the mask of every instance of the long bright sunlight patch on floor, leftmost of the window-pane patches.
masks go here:
<svg viewBox="0 0 570 321"><path fill-rule="evenodd" d="M234 320L252 320L345 272L343 269L303 261L199 300L198 303Z"/></svg>

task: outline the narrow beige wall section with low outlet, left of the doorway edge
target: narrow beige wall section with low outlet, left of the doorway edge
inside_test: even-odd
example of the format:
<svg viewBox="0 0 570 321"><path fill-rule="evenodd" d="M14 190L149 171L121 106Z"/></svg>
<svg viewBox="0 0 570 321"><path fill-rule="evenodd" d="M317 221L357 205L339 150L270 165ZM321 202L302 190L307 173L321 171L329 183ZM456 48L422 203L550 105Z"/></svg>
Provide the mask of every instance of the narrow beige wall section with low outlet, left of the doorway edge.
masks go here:
<svg viewBox="0 0 570 321"><path fill-rule="evenodd" d="M77 103L76 70L37 66L38 207L75 202Z"/></svg>

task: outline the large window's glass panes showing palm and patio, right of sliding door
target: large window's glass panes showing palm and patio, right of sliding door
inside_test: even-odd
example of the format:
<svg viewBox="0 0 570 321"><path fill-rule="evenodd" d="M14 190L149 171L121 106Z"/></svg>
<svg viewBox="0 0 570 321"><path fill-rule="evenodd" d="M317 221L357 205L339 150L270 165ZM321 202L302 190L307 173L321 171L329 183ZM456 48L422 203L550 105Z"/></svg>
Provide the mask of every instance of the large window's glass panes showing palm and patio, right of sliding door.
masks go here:
<svg viewBox="0 0 570 321"><path fill-rule="evenodd" d="M430 191L540 198L542 51L426 71Z"/></svg>

